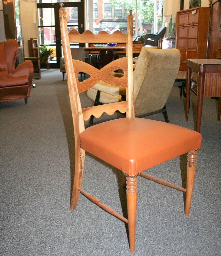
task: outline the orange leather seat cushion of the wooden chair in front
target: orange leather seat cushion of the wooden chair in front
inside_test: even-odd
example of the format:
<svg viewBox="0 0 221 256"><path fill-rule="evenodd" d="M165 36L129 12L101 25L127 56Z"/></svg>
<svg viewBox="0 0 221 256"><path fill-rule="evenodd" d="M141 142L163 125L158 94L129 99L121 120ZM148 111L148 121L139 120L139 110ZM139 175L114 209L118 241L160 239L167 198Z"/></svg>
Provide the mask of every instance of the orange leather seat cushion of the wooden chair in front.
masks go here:
<svg viewBox="0 0 221 256"><path fill-rule="evenodd" d="M201 134L170 123L120 118L91 126L80 134L81 148L128 175L201 146Z"/></svg>

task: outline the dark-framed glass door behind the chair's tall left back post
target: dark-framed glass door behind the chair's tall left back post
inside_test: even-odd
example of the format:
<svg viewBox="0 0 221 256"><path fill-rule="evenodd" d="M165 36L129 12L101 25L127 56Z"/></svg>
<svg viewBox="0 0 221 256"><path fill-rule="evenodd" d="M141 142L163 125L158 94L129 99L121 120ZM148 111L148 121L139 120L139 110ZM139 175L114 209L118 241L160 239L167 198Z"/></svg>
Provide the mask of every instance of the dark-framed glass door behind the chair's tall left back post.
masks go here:
<svg viewBox="0 0 221 256"><path fill-rule="evenodd" d="M39 46L46 45L47 49L53 50L49 57L51 68L59 68L60 58L62 57L59 8L60 3L37 4ZM85 30L84 2L64 2L64 8L67 15L68 29L75 28L83 33Z"/></svg>

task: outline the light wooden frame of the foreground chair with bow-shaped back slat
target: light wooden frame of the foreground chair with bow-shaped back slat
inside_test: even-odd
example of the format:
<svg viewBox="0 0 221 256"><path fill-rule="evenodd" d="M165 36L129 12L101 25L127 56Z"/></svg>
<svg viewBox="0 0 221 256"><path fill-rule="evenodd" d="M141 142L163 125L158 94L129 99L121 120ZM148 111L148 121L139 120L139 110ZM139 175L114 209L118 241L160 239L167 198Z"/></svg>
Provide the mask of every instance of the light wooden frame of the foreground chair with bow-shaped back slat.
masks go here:
<svg viewBox="0 0 221 256"><path fill-rule="evenodd" d="M182 130L188 130L188 133L191 136L196 137L197 142L193 145L191 144L191 150L188 150L188 164L187 164L187 187L186 189L182 187L175 186L171 183L166 181L154 178L150 175L142 173L142 171L136 173L130 171L124 171L124 169L118 168L117 165L114 165L118 169L120 169L124 174L123 185L126 185L126 197L127 197L127 215L128 219L124 218L113 209L111 209L106 204L102 203L99 199L95 198L94 196L88 194L81 188L82 177L83 177L83 169L84 169L84 161L85 161L85 150L83 149L84 146L82 145L83 138L82 134L89 129L85 130L84 121L88 120L91 115L95 117L100 117L102 113L107 113L112 115L116 110L120 111L121 113L126 112L126 118L117 119L120 120L135 120L138 122L151 122L152 120L145 120L142 118L135 118L134 117L134 97L133 97L133 69L132 69L132 24L133 24L133 16L132 11L127 19L127 35L124 35L120 31L114 32L112 35L101 31L98 35L94 35L90 31L85 31L83 34L78 33L77 30L72 30L68 34L67 30L67 21L66 21L66 14L65 9L63 9L63 4L61 4L61 9L59 10L59 17L60 17L60 27L61 27L61 36L62 36L62 44L63 44L63 51L64 51L64 58L66 63L66 70L67 70L67 82L68 82L68 90L70 96L70 103L71 103L71 110L72 110L72 117L74 123L74 135L75 135L75 177L74 177L74 185L73 185L73 192L72 192L72 199L71 199L71 209L75 209L77 206L79 194L82 193L86 197L88 197L91 201L95 204L99 205L101 208L109 212L110 214L116 216L120 220L128 223L129 229L129 244L130 244L130 251L133 253L135 250L135 224L136 224L136 204L137 204L137 180L138 176L147 178L149 180L153 180L157 183L167 185L169 187L178 189L182 192L186 192L186 205L185 205L185 216L188 217L189 210L190 210L190 203L192 197L192 190L193 190L193 183L194 183L194 176L195 176L195 169L196 169L196 158L197 158L197 149L193 149L193 147L198 146L200 147L201 144L201 135L196 133L195 131L188 130L182 127ZM119 42L126 44L126 57L114 60L110 64L106 65L102 69L98 70L95 67L78 61L72 60L71 50L70 50L70 41L71 42L81 42L81 43L108 43L108 42ZM75 67L75 68L74 68ZM116 78L111 76L110 74L115 70L121 69L124 72L124 76L122 78ZM84 80L83 82L78 81L77 76L79 72L84 72L90 75L90 78ZM126 87L126 100L122 102L110 103L105 105L98 105L89 108L82 109L80 103L79 93L84 92L91 88L97 81L101 80L101 75L103 76L102 80L117 85L117 86L125 86ZM141 120L141 121L140 121ZM113 120L111 120L113 121ZM109 122L107 125L109 125ZM135 122L134 121L134 122ZM162 123L163 126L170 125L169 127L176 127L174 125L152 121L154 123ZM104 123L103 123L104 124ZM96 128L101 124L94 125L90 128ZM114 126L115 127L115 126ZM176 129L174 128L174 129ZM145 137L145 136L144 136ZM91 138L91 137L90 137ZM93 138L92 138L93 139ZM192 141L192 139L190 140ZM82 148L83 147L83 148ZM189 148L189 147L188 147ZM186 152L188 152L186 151ZM186 153L183 152L182 154ZM178 153L177 153L178 154ZM96 154L95 154L96 155ZM107 155L105 155L107 157ZM174 156L175 157L175 156ZM169 159L172 159L171 157ZM104 160L102 157L100 157ZM165 158L164 155L161 157L163 160L157 161L167 161L169 159ZM164 160L165 158L165 160ZM104 160L106 161L106 160ZM154 159L155 161L155 159ZM108 161L106 161L108 162ZM159 162L160 163L160 162ZM110 163L111 164L111 163ZM133 161L128 162L129 170L133 170L134 163ZM113 165L113 164L112 164ZM149 166L148 166L149 168ZM147 169L147 168L146 168ZM132 173L132 174L131 174Z"/></svg>

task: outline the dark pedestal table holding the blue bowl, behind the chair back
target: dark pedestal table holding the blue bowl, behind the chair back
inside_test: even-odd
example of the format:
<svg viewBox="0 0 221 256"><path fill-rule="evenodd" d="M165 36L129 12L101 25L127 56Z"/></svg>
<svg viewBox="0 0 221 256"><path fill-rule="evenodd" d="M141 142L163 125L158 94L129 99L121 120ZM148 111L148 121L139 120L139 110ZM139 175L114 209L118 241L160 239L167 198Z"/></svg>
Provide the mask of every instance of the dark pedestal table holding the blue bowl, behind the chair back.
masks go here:
<svg viewBox="0 0 221 256"><path fill-rule="evenodd" d="M105 46L105 47L90 46L90 47L84 47L84 50L90 51L90 52L94 52L94 51L99 52L100 68L103 68L113 60L114 52L125 51L126 47L125 46Z"/></svg>

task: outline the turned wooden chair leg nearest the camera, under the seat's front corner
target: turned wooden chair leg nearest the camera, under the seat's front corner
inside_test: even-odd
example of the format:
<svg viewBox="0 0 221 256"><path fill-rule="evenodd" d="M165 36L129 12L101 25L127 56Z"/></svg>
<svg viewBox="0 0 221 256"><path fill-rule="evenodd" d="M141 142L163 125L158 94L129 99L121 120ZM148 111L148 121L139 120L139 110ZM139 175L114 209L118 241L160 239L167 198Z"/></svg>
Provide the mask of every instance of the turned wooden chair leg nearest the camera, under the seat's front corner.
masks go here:
<svg viewBox="0 0 221 256"><path fill-rule="evenodd" d="M135 250L136 204L137 204L137 177L126 177L126 201L129 229L130 252Z"/></svg>

